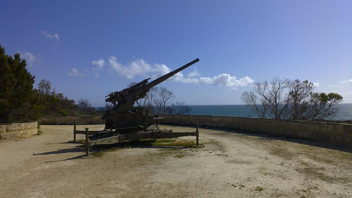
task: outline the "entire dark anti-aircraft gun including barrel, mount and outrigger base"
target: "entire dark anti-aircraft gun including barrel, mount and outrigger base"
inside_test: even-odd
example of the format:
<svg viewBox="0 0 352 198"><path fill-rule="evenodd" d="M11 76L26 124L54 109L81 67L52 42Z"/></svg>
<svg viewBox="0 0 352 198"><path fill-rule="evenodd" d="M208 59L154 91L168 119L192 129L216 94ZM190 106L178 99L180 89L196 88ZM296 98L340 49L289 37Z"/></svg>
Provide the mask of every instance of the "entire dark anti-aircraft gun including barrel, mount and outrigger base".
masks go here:
<svg viewBox="0 0 352 198"><path fill-rule="evenodd" d="M133 107L134 103L145 97L151 88L171 78L176 73L197 63L198 61L199 59L196 59L155 79L150 83L148 83L148 81L151 78L148 78L131 86L130 88L111 92L107 95L107 99L105 99L105 101L112 104L112 109L106 110L104 116L102 117L106 122L105 130L99 132L88 132L88 129L86 129L86 147L88 148L89 146L97 144L114 144L128 140L145 138L171 138L189 135L197 136L198 145L198 125L196 132L172 132L167 130L159 130L158 119L160 118L157 115L152 114L150 110L143 107ZM74 134L76 133L84 133L84 131L77 131L75 126ZM88 134L90 141L88 141Z"/></svg>

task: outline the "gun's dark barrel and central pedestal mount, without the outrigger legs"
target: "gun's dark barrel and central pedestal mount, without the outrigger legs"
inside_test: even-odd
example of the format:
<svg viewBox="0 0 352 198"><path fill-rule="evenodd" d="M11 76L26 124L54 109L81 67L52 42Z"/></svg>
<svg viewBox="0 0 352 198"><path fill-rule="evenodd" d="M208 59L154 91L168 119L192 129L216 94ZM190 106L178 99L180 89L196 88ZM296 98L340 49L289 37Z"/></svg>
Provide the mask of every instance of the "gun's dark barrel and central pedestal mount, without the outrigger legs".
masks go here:
<svg viewBox="0 0 352 198"><path fill-rule="evenodd" d="M176 73L182 71L183 69L197 63L199 59L196 59L184 66L177 68L170 73L167 73L154 81L148 83L151 78L145 79L140 83L133 85L130 88L125 88L121 91L111 92L106 102L110 102L113 105L111 110L107 110L105 115L102 117L106 124L105 129L109 130L119 130L124 128L124 131L143 129L146 130L148 127L153 125L154 116L151 112L144 108L134 109L134 103L145 97L147 92L155 87L156 85L162 83L163 81L171 78ZM133 112L134 111L134 112Z"/></svg>

